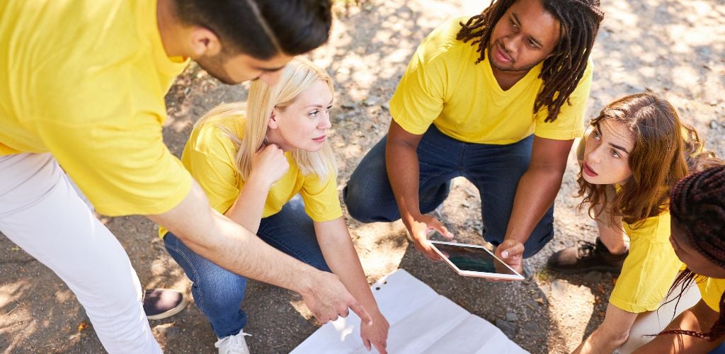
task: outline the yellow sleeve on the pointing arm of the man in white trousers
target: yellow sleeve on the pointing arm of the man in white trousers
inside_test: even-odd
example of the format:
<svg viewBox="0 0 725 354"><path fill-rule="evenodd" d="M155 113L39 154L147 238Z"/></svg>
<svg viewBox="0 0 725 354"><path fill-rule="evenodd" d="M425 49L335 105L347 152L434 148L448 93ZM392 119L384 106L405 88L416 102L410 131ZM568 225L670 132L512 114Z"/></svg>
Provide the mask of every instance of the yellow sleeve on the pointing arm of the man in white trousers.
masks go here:
<svg viewBox="0 0 725 354"><path fill-rule="evenodd" d="M191 176L164 144L162 118L144 112L90 125L37 120L65 172L104 215L156 215L178 205Z"/></svg>

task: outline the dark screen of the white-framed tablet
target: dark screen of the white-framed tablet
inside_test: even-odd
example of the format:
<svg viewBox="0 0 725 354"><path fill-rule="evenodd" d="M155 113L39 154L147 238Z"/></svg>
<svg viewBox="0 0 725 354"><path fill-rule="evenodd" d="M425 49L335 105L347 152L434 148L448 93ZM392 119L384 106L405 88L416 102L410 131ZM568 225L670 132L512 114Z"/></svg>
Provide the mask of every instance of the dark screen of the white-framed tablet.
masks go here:
<svg viewBox="0 0 725 354"><path fill-rule="evenodd" d="M435 244L435 247L448 255L448 260L461 271L479 271L484 273L502 273L516 275L491 253L479 247L453 244Z"/></svg>

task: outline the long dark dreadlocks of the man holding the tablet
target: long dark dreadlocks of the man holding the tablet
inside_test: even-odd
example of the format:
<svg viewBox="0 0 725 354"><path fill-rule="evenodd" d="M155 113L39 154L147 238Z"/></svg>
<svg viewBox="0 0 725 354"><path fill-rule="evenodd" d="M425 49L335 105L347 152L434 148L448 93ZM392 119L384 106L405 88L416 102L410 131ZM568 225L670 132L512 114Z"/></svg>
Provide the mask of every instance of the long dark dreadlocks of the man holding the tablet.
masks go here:
<svg viewBox="0 0 725 354"><path fill-rule="evenodd" d="M456 39L467 42L471 46L479 44L477 52L481 57L476 64L486 57L486 48L491 42L494 26L501 20L506 10L517 0L492 0L491 5L460 24L462 28ZM544 89L539 92L534 102L534 113L547 107L546 122L553 122L559 115L564 102L568 103L569 95L584 76L589 54L597 37L599 24L604 13L599 8L599 0L541 0L544 9L556 17L560 23L559 43L555 46L552 56L544 60L544 67L539 75L544 81Z"/></svg>

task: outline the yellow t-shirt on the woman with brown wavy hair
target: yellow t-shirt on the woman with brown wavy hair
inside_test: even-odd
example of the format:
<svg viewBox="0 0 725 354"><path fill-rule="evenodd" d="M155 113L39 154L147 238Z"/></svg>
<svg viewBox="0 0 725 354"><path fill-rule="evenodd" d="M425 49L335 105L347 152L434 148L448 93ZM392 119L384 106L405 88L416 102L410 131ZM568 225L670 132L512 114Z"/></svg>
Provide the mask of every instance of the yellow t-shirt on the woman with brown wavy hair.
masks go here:
<svg viewBox="0 0 725 354"><path fill-rule="evenodd" d="M623 226L630 239L629 255L609 302L631 313L656 310L682 267L669 242L670 213L647 218L636 229Z"/></svg>

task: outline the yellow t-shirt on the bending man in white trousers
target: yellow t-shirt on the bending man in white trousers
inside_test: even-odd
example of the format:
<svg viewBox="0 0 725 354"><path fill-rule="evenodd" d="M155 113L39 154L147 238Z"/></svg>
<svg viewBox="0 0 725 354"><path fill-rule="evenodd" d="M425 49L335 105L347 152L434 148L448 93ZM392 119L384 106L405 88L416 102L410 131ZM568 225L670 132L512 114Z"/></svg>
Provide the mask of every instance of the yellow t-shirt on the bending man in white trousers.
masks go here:
<svg viewBox="0 0 725 354"><path fill-rule="evenodd" d="M50 152L105 215L159 214L191 176L162 139L154 0L0 1L0 155Z"/></svg>

